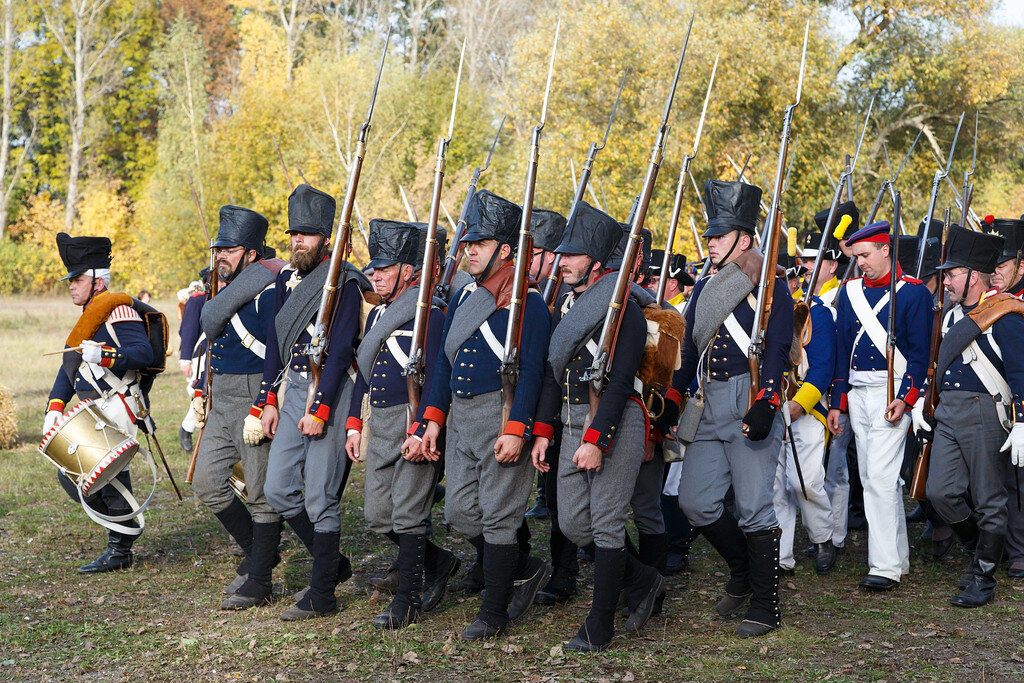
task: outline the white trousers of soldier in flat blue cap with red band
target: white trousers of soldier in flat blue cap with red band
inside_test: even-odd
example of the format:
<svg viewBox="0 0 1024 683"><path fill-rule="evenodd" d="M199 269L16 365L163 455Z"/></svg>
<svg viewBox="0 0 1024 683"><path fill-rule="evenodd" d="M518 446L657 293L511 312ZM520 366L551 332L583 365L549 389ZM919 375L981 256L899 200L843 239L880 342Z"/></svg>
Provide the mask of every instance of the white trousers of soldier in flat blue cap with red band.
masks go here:
<svg viewBox="0 0 1024 683"><path fill-rule="evenodd" d="M903 516L903 444L909 411L893 426L885 419L886 386L850 389L850 426L857 438L857 466L864 486L868 573L899 581L910 570L910 550Z"/></svg>

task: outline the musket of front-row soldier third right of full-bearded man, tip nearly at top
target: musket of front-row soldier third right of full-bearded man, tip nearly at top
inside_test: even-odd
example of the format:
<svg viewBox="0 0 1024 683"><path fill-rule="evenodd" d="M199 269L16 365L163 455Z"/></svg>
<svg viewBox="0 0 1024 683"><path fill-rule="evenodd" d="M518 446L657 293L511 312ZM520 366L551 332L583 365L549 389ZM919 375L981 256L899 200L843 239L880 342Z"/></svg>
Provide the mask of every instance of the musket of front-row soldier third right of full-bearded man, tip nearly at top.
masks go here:
<svg viewBox="0 0 1024 683"><path fill-rule="evenodd" d="M618 328L623 322L623 312L626 310L626 299L630 293L633 282L632 265L637 261L637 253L640 251L643 238L641 229L644 220L647 218L647 208L650 206L651 196L654 194L654 183L657 181L657 173L662 168L662 161L665 158L665 143L669 135L669 116L672 114L672 104L676 98L676 88L679 85L679 74L683 68L683 59L686 56L686 46L690 42L690 31L693 29L693 13L690 13L690 23L686 27L686 38L683 40L683 47L679 51L679 60L676 62L676 73L672 77L672 87L669 89L669 97L665 102L665 114L662 116L662 125L658 126L657 135L654 138L654 147L651 151L650 161L647 163L647 174L644 177L643 189L637 198L636 211L630 221L630 237L626 243L623 254L623 264L618 268L615 276L615 288L608 302L608 310L604 314L604 322L601 324L601 334L598 337L597 352L594 353L594 362L587 371L586 379L589 383L590 411L584 423L584 431L594 420L598 405L601 402L601 393L608 381L608 372L614 362L615 342L618 339Z"/></svg>

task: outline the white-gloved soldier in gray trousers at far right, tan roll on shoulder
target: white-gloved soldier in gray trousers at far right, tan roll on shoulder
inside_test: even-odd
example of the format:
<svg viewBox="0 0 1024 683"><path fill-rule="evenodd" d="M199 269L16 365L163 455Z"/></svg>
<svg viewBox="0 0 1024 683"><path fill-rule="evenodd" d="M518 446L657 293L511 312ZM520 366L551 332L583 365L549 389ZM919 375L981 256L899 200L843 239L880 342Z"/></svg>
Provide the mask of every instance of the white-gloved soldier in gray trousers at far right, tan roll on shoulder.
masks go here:
<svg viewBox="0 0 1024 683"><path fill-rule="evenodd" d="M928 500L974 554L949 601L980 607L993 597L1002 560L1007 460L1024 465L1024 359L1014 352L1024 339L1024 303L989 289L1001 237L952 225L947 239L939 270L953 307L942 322L939 404L931 421L915 408L913 421L933 443Z"/></svg>

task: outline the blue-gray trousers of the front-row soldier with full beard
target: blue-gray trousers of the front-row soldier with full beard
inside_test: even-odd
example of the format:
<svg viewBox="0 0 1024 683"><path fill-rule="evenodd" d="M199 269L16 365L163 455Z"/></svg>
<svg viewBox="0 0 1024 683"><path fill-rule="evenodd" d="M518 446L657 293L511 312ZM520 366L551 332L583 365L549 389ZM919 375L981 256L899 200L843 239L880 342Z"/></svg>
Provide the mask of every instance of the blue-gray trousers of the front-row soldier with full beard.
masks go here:
<svg viewBox="0 0 1024 683"><path fill-rule="evenodd" d="M347 376L342 381L324 434L316 438L299 431L299 420L306 412L308 386L308 379L289 371L278 432L270 442L266 500L283 517L294 517L305 509L316 531L340 531L338 501L349 462L345 455L348 411L343 407L351 399L352 382Z"/></svg>

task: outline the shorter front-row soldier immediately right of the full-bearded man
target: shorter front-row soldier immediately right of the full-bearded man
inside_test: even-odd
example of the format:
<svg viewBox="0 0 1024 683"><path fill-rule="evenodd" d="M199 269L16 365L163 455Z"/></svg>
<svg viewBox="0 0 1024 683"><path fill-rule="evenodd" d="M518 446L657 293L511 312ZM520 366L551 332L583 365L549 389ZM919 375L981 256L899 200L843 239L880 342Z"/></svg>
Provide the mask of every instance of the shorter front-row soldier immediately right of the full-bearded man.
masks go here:
<svg viewBox="0 0 1024 683"><path fill-rule="evenodd" d="M364 514L370 527L398 546L398 586L394 599L374 618L378 629L401 629L429 611L444 594L459 568L458 558L427 539L427 519L434 499L437 463L422 455L402 456L409 390L402 370L409 365L420 287L415 269L422 263L416 224L370 221L371 282L381 297L367 316L356 355L359 376L352 392L345 451L352 462L367 463ZM424 357L434 358L444 324L442 302L430 309ZM425 387L433 364L426 365ZM364 439L364 432L366 438ZM365 455L360 451L365 450ZM427 586L422 596L424 567ZM437 582L439 587L434 589Z"/></svg>

